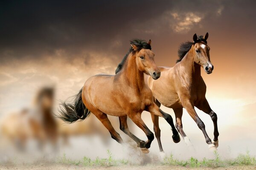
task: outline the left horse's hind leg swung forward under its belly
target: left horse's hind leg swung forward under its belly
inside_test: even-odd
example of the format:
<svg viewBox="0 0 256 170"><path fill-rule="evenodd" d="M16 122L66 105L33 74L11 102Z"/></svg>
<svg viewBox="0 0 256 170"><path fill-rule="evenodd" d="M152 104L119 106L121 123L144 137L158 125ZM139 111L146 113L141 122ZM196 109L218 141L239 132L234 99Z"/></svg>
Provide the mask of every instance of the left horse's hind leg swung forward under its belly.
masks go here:
<svg viewBox="0 0 256 170"><path fill-rule="evenodd" d="M119 123L120 123L120 130L122 130L126 135L130 136L131 139L133 139L138 147L143 147L142 144L145 143L145 141L140 140L135 136L128 128L127 125L127 116L120 116L119 117Z"/></svg>

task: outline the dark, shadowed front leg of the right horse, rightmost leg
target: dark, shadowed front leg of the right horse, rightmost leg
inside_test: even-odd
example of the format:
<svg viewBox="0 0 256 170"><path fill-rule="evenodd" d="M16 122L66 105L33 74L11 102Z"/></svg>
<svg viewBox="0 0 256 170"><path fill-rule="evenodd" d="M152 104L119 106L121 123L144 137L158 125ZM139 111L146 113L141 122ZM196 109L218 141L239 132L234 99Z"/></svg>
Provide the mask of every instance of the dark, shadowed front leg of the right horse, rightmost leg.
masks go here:
<svg viewBox="0 0 256 170"><path fill-rule="evenodd" d="M212 119L213 122L213 126L214 126L214 138L212 139L212 143L215 145L215 147L218 147L218 125L217 125L217 114L212 111L212 109L209 106L209 103L207 102L207 99L204 99L203 102L201 102L200 105L197 106L198 109L200 109L201 111L203 111L204 113L209 114L209 116Z"/></svg>

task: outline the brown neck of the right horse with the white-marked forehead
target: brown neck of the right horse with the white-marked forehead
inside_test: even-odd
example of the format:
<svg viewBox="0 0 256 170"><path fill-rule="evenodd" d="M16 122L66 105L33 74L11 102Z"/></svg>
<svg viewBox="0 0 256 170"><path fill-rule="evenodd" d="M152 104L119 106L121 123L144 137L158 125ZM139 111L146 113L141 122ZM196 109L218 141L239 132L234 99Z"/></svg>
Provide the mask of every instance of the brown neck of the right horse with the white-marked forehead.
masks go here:
<svg viewBox="0 0 256 170"><path fill-rule="evenodd" d="M201 66L194 62L194 55L195 53L190 49L180 61L180 65L183 66L182 71L189 77L187 81L190 82L198 82L201 77Z"/></svg>

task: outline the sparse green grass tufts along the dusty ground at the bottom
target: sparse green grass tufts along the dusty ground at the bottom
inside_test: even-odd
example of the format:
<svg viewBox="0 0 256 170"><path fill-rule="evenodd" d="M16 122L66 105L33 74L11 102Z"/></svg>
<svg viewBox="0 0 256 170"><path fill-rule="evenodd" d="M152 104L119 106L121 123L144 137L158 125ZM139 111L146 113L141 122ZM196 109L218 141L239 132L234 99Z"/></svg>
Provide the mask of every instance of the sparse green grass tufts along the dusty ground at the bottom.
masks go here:
<svg viewBox="0 0 256 170"><path fill-rule="evenodd" d="M111 167L118 165L126 165L132 164L128 160L125 159L113 159L113 155L110 150L107 150L108 158L99 158L96 157L95 160L92 160L86 156L83 157L80 161L74 161L68 159L64 154L62 157L58 159L58 163L61 164L73 164L73 165L81 165L84 167L93 167L93 166L103 166L103 167ZM218 152L214 153L214 159L204 158L202 160L198 160L194 157L191 157L188 160L178 160L175 159L171 154L170 156L166 156L163 161L159 161L162 165L173 165L173 166L183 166L183 167L228 167L228 166L241 166L241 165L256 165L255 156L250 156L247 151L245 154L239 154L235 159L221 159L221 156ZM155 164L155 163L153 163Z"/></svg>

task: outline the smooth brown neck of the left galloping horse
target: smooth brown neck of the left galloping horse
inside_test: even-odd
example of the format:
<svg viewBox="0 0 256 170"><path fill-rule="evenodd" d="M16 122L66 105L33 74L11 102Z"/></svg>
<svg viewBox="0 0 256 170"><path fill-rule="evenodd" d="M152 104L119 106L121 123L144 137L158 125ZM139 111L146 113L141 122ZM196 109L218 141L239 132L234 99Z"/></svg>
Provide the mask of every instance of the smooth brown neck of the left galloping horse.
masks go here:
<svg viewBox="0 0 256 170"><path fill-rule="evenodd" d="M130 54L124 66L125 68L122 68L122 73L128 84L134 89L141 91L145 85L144 73L137 68L136 57Z"/></svg>

